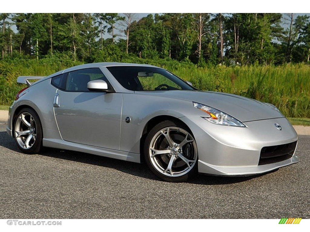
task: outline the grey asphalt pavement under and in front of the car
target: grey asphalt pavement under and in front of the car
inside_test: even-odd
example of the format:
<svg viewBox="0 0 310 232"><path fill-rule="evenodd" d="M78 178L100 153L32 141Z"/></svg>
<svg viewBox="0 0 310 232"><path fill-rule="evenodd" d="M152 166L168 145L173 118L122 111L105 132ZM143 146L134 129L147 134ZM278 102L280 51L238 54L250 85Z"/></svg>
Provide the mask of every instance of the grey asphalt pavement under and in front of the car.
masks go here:
<svg viewBox="0 0 310 232"><path fill-rule="evenodd" d="M0 122L0 218L310 218L310 136L299 163L255 177L167 183L145 164L46 148L20 153Z"/></svg>

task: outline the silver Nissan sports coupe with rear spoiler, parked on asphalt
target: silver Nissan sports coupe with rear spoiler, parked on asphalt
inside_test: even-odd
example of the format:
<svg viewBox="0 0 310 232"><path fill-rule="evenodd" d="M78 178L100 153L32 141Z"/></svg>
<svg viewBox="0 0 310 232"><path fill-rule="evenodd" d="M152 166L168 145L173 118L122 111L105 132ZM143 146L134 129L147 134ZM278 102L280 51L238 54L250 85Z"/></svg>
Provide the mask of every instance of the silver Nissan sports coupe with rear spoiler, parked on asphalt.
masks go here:
<svg viewBox="0 0 310 232"><path fill-rule="evenodd" d="M171 182L298 162L297 134L274 105L198 91L163 68L93 63L17 82L29 87L10 107L7 132L24 153L44 146L145 162Z"/></svg>

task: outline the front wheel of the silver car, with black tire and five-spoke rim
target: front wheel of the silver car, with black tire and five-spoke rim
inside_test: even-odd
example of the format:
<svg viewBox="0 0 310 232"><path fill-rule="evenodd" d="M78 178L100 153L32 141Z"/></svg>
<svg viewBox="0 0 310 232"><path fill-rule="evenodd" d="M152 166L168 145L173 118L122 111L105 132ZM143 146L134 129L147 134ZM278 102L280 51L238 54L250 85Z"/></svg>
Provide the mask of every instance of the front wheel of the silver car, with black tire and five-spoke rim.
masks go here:
<svg viewBox="0 0 310 232"><path fill-rule="evenodd" d="M196 141L178 122L160 122L148 133L144 158L155 175L169 182L184 182L198 173Z"/></svg>

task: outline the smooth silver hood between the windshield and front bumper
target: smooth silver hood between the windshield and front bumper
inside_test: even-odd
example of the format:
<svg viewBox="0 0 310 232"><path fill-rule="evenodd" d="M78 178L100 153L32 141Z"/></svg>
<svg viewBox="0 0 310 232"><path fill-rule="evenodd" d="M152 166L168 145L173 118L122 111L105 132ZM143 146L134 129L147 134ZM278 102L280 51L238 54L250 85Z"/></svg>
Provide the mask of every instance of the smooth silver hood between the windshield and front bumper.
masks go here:
<svg viewBox="0 0 310 232"><path fill-rule="evenodd" d="M195 101L229 114L241 122L284 117L279 111L260 101L228 93L191 90L143 91L135 93Z"/></svg>

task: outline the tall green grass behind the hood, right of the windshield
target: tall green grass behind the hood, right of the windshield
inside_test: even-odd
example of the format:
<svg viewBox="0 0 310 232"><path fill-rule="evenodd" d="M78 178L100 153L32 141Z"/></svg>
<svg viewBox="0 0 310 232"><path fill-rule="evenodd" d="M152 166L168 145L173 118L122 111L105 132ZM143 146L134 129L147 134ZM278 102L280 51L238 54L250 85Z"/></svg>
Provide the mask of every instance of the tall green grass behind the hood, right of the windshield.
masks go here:
<svg viewBox="0 0 310 232"><path fill-rule="evenodd" d="M169 67L168 67L169 69ZM287 117L310 118L310 66L242 66L170 69L201 90L269 102Z"/></svg>

